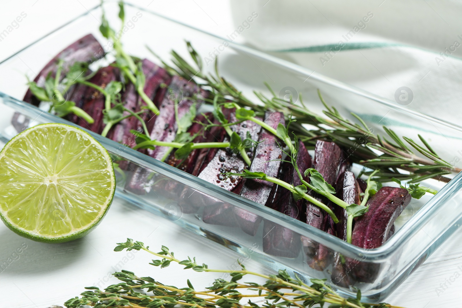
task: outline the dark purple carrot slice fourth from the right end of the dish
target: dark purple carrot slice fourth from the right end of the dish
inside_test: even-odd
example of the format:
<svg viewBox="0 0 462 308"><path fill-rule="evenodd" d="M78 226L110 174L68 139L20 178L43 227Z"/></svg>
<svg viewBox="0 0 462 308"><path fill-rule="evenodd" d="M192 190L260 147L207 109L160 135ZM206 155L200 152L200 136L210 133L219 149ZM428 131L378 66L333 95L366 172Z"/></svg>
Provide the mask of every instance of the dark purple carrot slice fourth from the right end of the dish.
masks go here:
<svg viewBox="0 0 462 308"><path fill-rule="evenodd" d="M304 144L300 141L298 145L297 166L300 172L311 168L311 157ZM301 185L297 171L291 163L282 163L279 178L282 181L292 183L294 186ZM304 178L308 180L308 178ZM302 214L303 199L295 200L290 191L286 188L278 187L272 205L268 205L281 213L288 215L292 219L300 219ZM267 254L295 258L300 252L300 235L292 230L284 228L279 224L265 220L263 225L263 251Z"/></svg>

